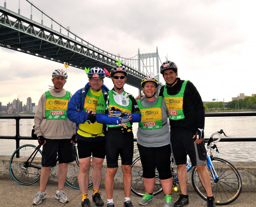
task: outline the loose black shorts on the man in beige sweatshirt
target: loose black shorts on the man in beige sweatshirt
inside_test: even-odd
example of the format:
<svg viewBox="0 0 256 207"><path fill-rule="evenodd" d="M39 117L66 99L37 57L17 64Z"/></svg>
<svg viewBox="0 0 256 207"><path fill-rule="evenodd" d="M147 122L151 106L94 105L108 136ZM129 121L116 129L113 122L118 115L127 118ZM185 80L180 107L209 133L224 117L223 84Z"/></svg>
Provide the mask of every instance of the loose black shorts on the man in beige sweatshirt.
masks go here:
<svg viewBox="0 0 256 207"><path fill-rule="evenodd" d="M60 164L75 161L71 139L46 139L42 150L42 166L55 166L57 155Z"/></svg>

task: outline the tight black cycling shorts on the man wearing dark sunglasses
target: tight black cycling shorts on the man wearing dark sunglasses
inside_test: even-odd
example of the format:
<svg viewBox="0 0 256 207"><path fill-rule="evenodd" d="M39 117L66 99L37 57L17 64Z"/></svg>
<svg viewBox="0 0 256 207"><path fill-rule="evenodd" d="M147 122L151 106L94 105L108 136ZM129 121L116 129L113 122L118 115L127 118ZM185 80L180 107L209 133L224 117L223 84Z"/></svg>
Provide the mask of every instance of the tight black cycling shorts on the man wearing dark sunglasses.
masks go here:
<svg viewBox="0 0 256 207"><path fill-rule="evenodd" d="M105 151L108 168L118 167L120 154L122 165L132 165L133 133L108 131L105 135Z"/></svg>

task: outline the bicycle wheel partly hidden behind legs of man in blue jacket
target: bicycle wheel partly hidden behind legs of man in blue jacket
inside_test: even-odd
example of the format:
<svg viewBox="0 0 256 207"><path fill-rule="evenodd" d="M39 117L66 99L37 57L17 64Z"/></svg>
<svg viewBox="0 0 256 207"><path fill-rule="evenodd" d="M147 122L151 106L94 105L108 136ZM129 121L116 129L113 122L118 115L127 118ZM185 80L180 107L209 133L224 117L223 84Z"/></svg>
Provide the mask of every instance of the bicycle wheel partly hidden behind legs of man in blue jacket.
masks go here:
<svg viewBox="0 0 256 207"><path fill-rule="evenodd" d="M74 151L75 151L75 161L68 163L67 166L67 177L66 177L66 184L68 184L70 187L75 188L75 189L80 189L79 188L79 183L78 183L78 173L79 173L79 158L78 158L78 152L77 152L77 147L74 146ZM90 167L90 172L89 175L91 174L92 168ZM89 185L92 186L92 178L89 176Z"/></svg>

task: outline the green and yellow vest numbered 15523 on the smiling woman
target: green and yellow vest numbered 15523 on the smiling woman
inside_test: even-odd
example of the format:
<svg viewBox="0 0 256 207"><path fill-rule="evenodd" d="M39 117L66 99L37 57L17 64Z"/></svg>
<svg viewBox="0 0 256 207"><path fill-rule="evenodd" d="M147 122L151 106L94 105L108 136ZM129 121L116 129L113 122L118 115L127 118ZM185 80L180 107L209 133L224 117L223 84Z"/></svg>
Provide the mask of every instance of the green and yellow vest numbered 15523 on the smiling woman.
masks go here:
<svg viewBox="0 0 256 207"><path fill-rule="evenodd" d="M159 129L162 128L162 96L158 97L158 102L151 107L144 107L138 99L137 104L141 113L139 126L142 129Z"/></svg>

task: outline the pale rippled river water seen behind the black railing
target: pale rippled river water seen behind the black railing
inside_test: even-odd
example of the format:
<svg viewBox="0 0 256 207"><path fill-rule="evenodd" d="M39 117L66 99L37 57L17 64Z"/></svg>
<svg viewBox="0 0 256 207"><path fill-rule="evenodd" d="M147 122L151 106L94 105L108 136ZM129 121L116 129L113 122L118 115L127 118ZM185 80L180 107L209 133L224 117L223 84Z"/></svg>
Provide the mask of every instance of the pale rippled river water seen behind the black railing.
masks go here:
<svg viewBox="0 0 256 207"><path fill-rule="evenodd" d="M30 136L34 125L34 119L20 120L20 135ZM138 123L133 124L135 138ZM256 137L256 117L206 117L204 135L206 138L214 132L223 129L230 138ZM0 119L0 135L15 136L15 120ZM223 137L223 136L222 136ZM37 140L20 140L20 146L31 143L37 145ZM11 155L15 151L15 140L0 139L0 155ZM215 157L224 158L228 161L256 161L255 142L219 142L217 143L219 153ZM135 143L134 157L139 156Z"/></svg>

